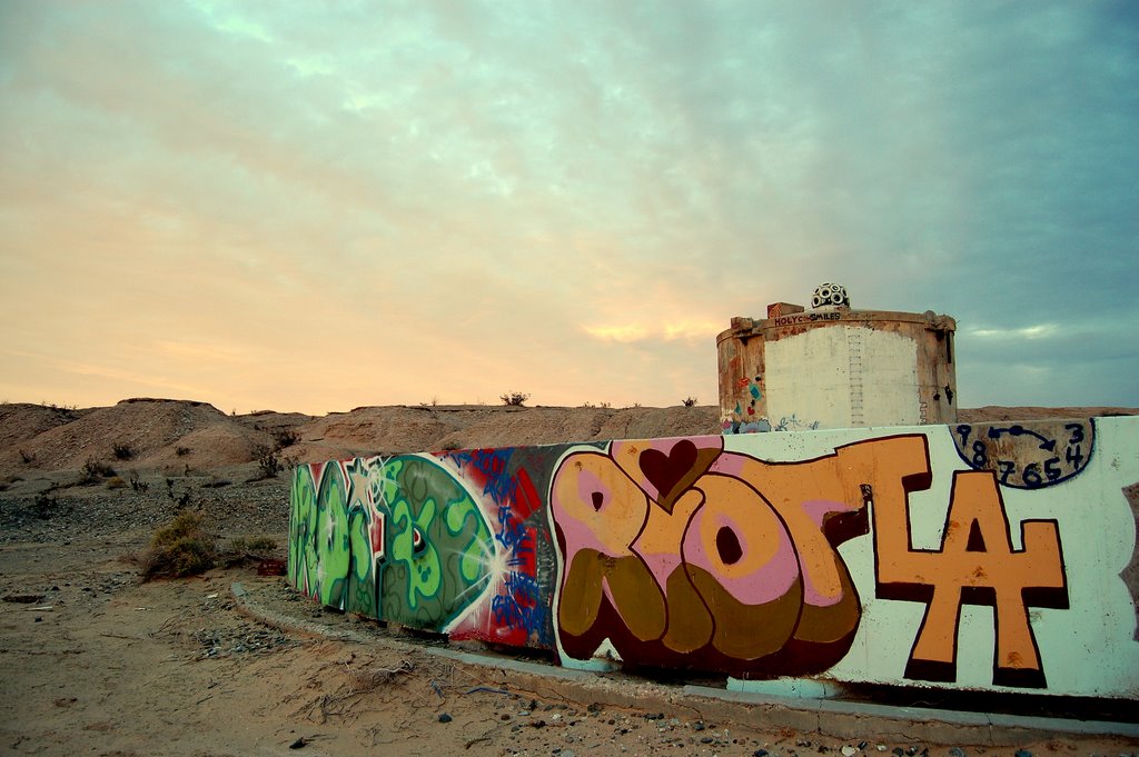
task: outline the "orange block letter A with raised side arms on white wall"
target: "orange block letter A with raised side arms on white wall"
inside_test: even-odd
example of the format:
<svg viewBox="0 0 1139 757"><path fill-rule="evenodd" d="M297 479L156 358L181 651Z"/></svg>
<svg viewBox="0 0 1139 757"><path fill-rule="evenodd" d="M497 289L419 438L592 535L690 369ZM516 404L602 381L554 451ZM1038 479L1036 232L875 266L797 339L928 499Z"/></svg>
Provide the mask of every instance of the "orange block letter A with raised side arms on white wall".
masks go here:
<svg viewBox="0 0 1139 757"><path fill-rule="evenodd" d="M993 683L1044 688L1029 608L1068 607L1056 521L1023 521L1023 548L1014 550L995 475L957 471L941 549L915 550L906 497L888 494L874 502L877 595L926 604L906 677L956 681L961 604L988 604L995 622Z"/></svg>

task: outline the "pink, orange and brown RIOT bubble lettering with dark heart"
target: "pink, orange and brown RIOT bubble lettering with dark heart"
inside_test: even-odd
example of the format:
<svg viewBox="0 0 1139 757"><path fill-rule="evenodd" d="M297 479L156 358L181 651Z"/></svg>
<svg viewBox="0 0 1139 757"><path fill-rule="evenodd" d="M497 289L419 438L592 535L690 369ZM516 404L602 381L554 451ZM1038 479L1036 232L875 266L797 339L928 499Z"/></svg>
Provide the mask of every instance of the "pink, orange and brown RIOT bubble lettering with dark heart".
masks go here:
<svg viewBox="0 0 1139 757"><path fill-rule="evenodd" d="M722 437L614 442L555 474L564 553L558 630L588 658L746 676L825 670L858 630L836 548L867 533L876 442L793 464L724 452Z"/></svg>

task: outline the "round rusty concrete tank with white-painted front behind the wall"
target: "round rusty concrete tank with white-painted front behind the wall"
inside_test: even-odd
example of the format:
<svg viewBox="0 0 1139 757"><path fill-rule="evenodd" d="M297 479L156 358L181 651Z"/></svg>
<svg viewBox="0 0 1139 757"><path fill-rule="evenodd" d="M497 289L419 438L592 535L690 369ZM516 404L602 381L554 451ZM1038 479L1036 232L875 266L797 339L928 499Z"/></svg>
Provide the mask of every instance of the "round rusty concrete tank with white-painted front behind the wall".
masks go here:
<svg viewBox="0 0 1139 757"><path fill-rule="evenodd" d="M825 283L716 337L724 434L957 422L948 315L852 310Z"/></svg>

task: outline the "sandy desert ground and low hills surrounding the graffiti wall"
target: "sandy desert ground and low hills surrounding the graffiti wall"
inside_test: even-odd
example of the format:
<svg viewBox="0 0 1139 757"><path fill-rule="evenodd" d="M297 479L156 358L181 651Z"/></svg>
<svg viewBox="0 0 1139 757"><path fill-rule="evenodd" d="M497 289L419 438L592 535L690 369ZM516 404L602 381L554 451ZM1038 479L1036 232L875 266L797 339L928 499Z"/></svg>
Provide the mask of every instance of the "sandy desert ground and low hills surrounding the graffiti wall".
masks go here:
<svg viewBox="0 0 1139 757"><path fill-rule="evenodd" d="M995 419L1139 414L983 408ZM227 414L187 401L0 405L0 750L15 755L1134 755L1120 739L1008 747L836 738L778 717L720 717L677 682L567 686L436 653L437 640L298 598L284 558L295 461L715 434L715 408L361 408ZM200 513L229 567L144 582L178 511ZM243 548L269 537L274 549ZM236 596L233 585L244 589ZM268 622L267 622L268 620ZM493 650L490 650L491 652ZM490 653L490 652L489 652ZM534 660L541 663L542 660Z"/></svg>

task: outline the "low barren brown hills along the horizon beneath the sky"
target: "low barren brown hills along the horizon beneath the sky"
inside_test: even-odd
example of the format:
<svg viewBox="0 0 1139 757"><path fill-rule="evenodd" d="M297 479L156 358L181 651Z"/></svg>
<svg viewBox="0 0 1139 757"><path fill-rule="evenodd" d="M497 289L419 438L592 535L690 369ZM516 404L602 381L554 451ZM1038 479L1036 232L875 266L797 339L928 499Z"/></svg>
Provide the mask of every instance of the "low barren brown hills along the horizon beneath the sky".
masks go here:
<svg viewBox="0 0 1139 757"><path fill-rule="evenodd" d="M980 408L962 422L1139 414L1134 408ZM228 415L186 400L123 400L109 408L0 405L0 475L77 470L89 462L205 471L257 461L719 434L715 406L369 406L322 417Z"/></svg>

